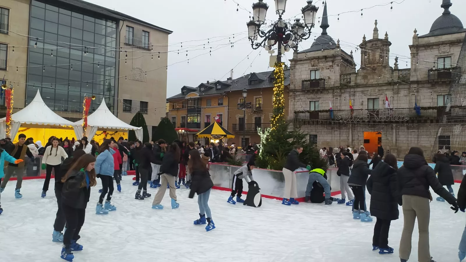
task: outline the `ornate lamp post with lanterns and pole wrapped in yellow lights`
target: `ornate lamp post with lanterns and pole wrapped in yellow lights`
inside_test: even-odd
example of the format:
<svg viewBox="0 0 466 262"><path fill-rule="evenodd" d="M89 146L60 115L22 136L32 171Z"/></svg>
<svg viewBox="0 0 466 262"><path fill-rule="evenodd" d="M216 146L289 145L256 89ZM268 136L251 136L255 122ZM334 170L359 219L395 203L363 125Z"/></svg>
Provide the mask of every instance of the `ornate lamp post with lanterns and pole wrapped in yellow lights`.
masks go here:
<svg viewBox="0 0 466 262"><path fill-rule="evenodd" d="M300 22L300 19L295 19L295 23L289 24L281 17L285 13L287 0L274 1L275 11L279 17L271 29L267 32L260 30L260 27L266 21L265 17L268 10L268 5L264 3L264 0L259 0L259 2L253 4L253 18L247 22L248 38L251 41L253 49L265 48L270 54L273 54L273 47L277 45L277 59L274 63L274 113L270 120L272 129L284 121L285 118L283 97L284 63L281 62L281 55L290 49L294 49L297 52L298 44L303 40L309 39L311 29L315 26L317 11L319 10L318 7L312 4L312 0L308 0L307 5L301 9L304 23Z"/></svg>

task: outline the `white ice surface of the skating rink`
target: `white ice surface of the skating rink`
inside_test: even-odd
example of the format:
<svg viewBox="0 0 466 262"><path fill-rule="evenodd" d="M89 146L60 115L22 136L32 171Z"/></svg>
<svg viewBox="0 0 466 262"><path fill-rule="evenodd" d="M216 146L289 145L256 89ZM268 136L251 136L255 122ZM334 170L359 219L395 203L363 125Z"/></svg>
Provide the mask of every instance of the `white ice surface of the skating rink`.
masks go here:
<svg viewBox="0 0 466 262"><path fill-rule="evenodd" d="M253 208L226 203L229 193L212 191L209 206L216 229L206 232L194 226L198 218L197 196L177 190L180 207L172 210L168 190L164 210L151 209L158 189L149 188L150 199L135 200L132 177L123 177L122 193L114 193L117 211L96 215L99 186L92 188L86 220L80 233L84 250L74 252L75 262L398 262L403 213L392 221L389 245L393 255L372 251L374 222L352 219L351 207L323 204L283 206L262 199ZM100 182L100 181L99 181ZM1 262L59 262L61 244L52 242L56 213L53 179L48 196L41 198L42 179L25 180L23 198L14 198L16 181L1 194L5 209L0 215ZM455 192L459 185L453 186ZM435 193L433 197L437 197ZM367 194L367 203L370 195ZM454 214L447 203L431 203L431 255L438 262L458 261L458 243L465 214ZM418 261L417 226L412 237L410 262Z"/></svg>

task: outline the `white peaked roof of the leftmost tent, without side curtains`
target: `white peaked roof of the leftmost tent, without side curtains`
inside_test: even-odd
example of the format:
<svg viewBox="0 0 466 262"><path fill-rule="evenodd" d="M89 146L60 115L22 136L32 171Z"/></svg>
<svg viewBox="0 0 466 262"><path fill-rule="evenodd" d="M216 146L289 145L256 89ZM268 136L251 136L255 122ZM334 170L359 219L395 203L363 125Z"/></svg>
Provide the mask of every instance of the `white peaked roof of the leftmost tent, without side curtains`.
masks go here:
<svg viewBox="0 0 466 262"><path fill-rule="evenodd" d="M11 116L11 119L21 124L44 124L44 125L76 125L52 111L42 100L41 93L37 90L34 99L25 108ZM6 117L0 119L0 122Z"/></svg>

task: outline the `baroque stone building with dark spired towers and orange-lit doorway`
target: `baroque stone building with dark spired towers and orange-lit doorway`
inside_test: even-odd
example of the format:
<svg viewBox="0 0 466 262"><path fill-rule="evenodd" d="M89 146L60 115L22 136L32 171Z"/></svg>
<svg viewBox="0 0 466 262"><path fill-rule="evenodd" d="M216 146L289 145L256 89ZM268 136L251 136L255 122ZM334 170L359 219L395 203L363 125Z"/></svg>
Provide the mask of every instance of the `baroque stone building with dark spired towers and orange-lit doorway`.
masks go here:
<svg viewBox="0 0 466 262"><path fill-rule="evenodd" d="M443 0L443 13L428 33L419 35L414 29L411 57L403 57L411 67L401 69L398 57L393 66L389 63L392 43L387 32L379 34L377 20L372 37L364 34L357 53L345 52L327 32L325 4L322 34L290 60L288 119L310 133L309 140L319 147L364 145L377 152L383 144L385 152L397 157L411 146L423 148L426 157L445 147L464 151L466 147L454 148L453 134L440 129L462 122L460 117L446 118L452 117L450 105L456 106L451 104L452 86L464 80L466 67L457 64L466 55L461 50L466 29L451 14L451 6ZM354 55L361 55L361 64Z"/></svg>

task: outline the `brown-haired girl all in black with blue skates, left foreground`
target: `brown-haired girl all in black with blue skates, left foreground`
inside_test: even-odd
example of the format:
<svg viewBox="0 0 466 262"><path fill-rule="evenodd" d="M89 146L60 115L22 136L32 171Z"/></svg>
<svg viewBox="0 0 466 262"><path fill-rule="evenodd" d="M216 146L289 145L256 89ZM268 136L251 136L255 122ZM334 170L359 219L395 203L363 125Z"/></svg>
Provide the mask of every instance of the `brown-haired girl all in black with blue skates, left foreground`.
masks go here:
<svg viewBox="0 0 466 262"><path fill-rule="evenodd" d="M82 250L82 245L76 243L79 232L84 224L90 187L96 185L94 165L96 158L90 154L81 156L63 176L62 209L67 221L67 229L63 236L61 258L72 261L75 257L71 251Z"/></svg>

